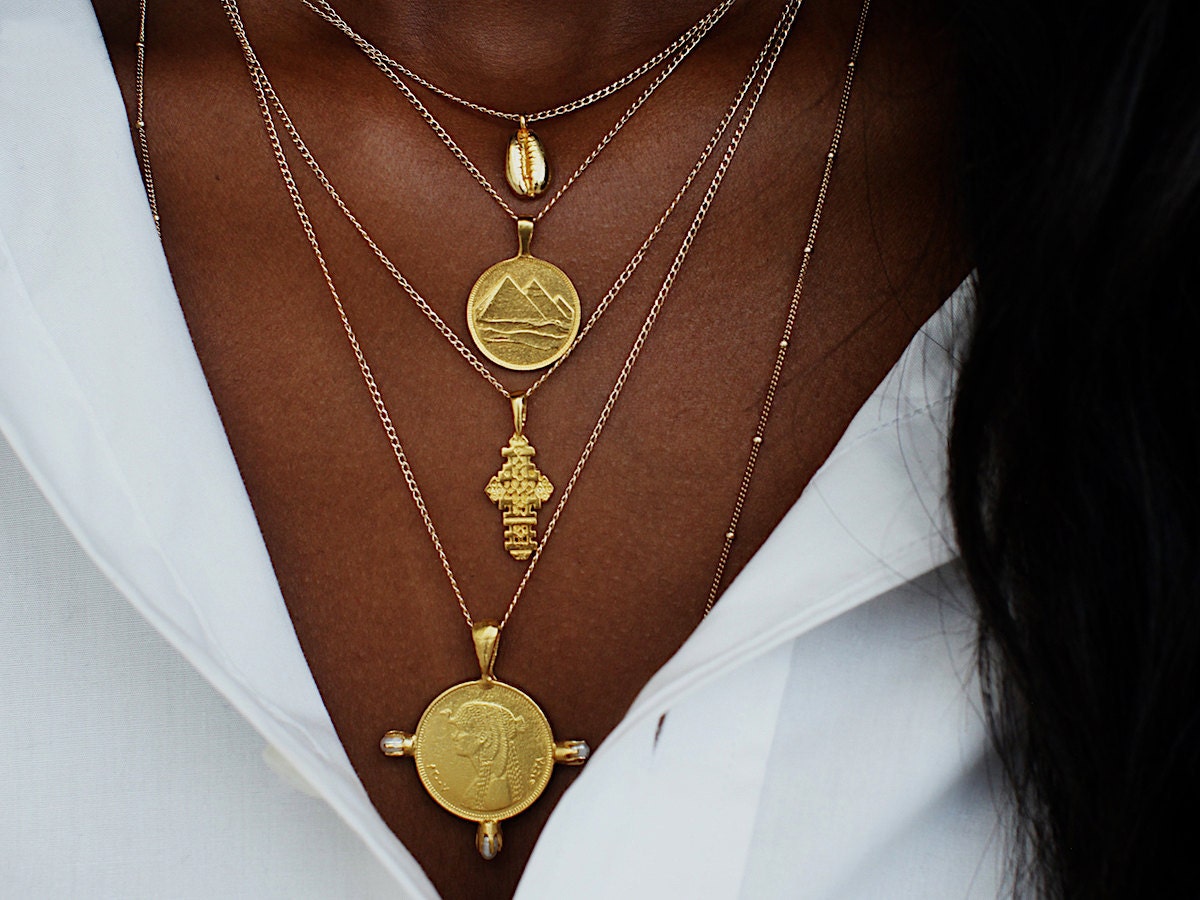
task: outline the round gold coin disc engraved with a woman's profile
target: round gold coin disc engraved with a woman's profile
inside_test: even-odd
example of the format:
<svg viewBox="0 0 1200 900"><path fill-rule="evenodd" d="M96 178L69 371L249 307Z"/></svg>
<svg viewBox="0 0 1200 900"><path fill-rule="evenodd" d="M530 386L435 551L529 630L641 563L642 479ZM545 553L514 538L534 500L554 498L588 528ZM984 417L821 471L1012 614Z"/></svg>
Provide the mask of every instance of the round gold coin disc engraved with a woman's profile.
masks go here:
<svg viewBox="0 0 1200 900"><path fill-rule="evenodd" d="M553 766L545 715L498 682L469 682L430 704L416 727L418 773L430 793L472 821L508 818L533 803Z"/></svg>

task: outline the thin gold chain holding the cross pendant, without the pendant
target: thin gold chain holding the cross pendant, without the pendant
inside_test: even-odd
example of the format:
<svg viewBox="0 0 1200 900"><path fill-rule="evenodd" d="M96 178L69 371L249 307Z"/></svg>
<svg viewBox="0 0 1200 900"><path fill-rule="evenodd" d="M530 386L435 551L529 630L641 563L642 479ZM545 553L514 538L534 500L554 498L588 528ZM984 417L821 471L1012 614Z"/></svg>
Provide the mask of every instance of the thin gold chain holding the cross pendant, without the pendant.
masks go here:
<svg viewBox="0 0 1200 900"><path fill-rule="evenodd" d="M647 251L649 251L650 245L654 242L654 239L658 238L659 233L666 226L667 220L671 217L672 212L674 212L676 208L683 200L684 196L688 193L688 190L691 187L692 182L696 180L700 172L708 162L713 151L720 144L725 132L728 130L730 122L736 116L737 110L742 106L742 102L745 100L745 96L750 91L751 85L757 79L758 72L762 70L762 66L767 56L769 55L773 43L775 42L775 40L778 40L782 30L786 13L787 13L787 7L785 6L784 12L780 14L780 18L775 22L774 28L768 35L767 42L763 44L762 50L758 53L758 56L751 65L750 72L742 82L742 85L738 89L737 94L734 95L733 101L726 109L725 115L721 118L720 122L718 122L718 126L713 131L713 134L709 138L708 144L706 144L704 149L701 151L701 155L697 158L696 164L692 166L691 172L688 173L688 176L684 179L683 185L676 192L676 196L671 199L671 202L667 204L666 209L659 217L659 221L655 223L654 228L650 229L650 233L646 236L646 239L642 241L642 245L630 258L629 263L625 265L625 269L622 271L622 274L617 276L617 280L613 282L612 287L596 305L596 308L588 317L588 320L584 323L583 328L575 336L571 343L568 344L562 356L559 356L550 368L542 372L536 378L536 380L534 380L533 384L530 384L529 388L527 388L522 392L524 397L527 398L532 397L534 392L539 388L541 388L541 385L545 384L546 380L558 370L558 367L566 361L566 359L571 355L575 348L580 346L580 343L583 341L584 337L587 337L592 328L600 320L600 317L604 316L605 311L620 293L625 283L632 277L634 272L637 270L637 266L646 257ZM238 20L241 22L240 17ZM242 30L239 35L239 40L241 35L245 34L246 34L245 26L242 26ZM246 46L250 47L248 37L246 40ZM467 364L473 370L475 370L475 372L478 372L488 384L491 384L492 388L497 390L497 392L499 392L506 400L511 401L512 397L515 396L514 392L504 386L504 384L496 377L496 374L467 346L466 341L458 337L457 332L455 332L455 330L449 324L446 324L446 322L438 314L438 312L430 305L430 302L420 294L420 292L418 292L416 288L412 286L412 283L404 277L404 275L400 271L396 264L391 262L388 254L384 253L384 251L374 241L374 239L366 230L366 228L362 226L359 218L349 209L348 204L342 199L337 188L330 181L329 176L322 169L320 164L317 162L312 151L308 149L304 138L300 136L300 132L295 127L295 124L292 121L290 115L288 115L288 112L283 106L283 102L280 100L278 94L276 94L274 85L271 84L270 79L266 76L265 70L262 66L262 62L258 60L258 56L253 50L253 47L250 47L248 50L244 47L242 52L244 54L248 54L248 58L253 58L254 60L253 65L260 73L263 89L266 92L266 96L270 100L271 106L275 108L275 114L278 116L283 131L287 132L288 137L292 139L293 145L296 148L296 152L312 170L316 179L320 182L322 187L325 188L325 192L330 196L330 198L334 200L337 208L342 211L342 215L346 216L347 221L349 221L349 223L359 233L359 236L362 238L366 245L371 248L371 252L374 253L376 258L383 264L383 266L388 270L388 272L396 281L396 283L400 284L400 287L404 290L406 294L408 294L408 296L413 300L414 305L425 314L425 317L450 343L450 346L454 347L454 349L458 353L458 355L462 356L463 360L466 360Z"/></svg>

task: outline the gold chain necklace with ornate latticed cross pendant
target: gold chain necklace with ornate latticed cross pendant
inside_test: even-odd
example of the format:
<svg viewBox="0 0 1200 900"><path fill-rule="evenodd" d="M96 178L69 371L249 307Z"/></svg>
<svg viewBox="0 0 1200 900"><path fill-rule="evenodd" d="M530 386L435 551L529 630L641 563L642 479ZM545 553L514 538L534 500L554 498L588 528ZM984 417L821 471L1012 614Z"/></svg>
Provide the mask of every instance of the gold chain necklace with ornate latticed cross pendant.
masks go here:
<svg viewBox="0 0 1200 900"><path fill-rule="evenodd" d="M485 492L490 500L492 500L500 511L500 523L504 529L503 540L504 548L512 556L514 559L523 560L528 559L533 553L534 546L536 545L536 522L538 522L538 510L541 508L547 499L550 499L553 493L553 485L550 479L546 478L538 468L533 464L533 456L536 450L529 444L528 438L524 436L523 428L528 413L528 401L533 394L546 383L546 380L558 370L558 367L566 361L570 353L578 346L583 337L590 331L590 329L599 322L600 317L604 314L605 310L620 292L622 287L632 276L634 271L637 269L641 260L644 258L646 252L649 250L650 244L653 244L656 235L660 233L666 221L670 218L671 214L674 211L676 206L683 199L684 194L688 192L692 181L703 169L712 152L718 148L721 142L722 136L728 128L730 124L736 118L737 110L745 100L746 94L750 91L751 86L758 78L758 73L762 71L766 60L770 53L770 48L774 42L779 38L785 19L788 14L788 7L785 5L780 18L775 22L774 28L768 35L767 42L763 44L762 50L755 59L754 65L750 67L750 72L743 80L740 89L734 95L733 101L730 103L725 115L718 124L709 138L708 144L704 146L692 166L691 172L689 172L683 186L672 198L671 203L664 210L655 227L650 230L649 235L642 242L641 247L630 259L625 270L618 276L617 281L613 283L612 288L596 306L595 311L589 317L587 325L575 336L570 344L566 346L565 352L551 365L551 367L545 371L534 383L524 390L523 394L514 394L508 390L479 361L474 353L466 346L466 343L458 338L457 334L437 314L437 312L430 306L430 304L416 292L416 289L408 282L407 278L401 274L400 269L388 258L388 256L380 250L379 245L371 238L366 228L359 222L358 217L350 211L349 206L338 194L337 190L334 187L332 182L325 175L324 170L320 168L316 157L308 150L305 144L300 132L292 121L290 115L282 100L280 100L278 94L276 94L275 88L271 85L270 79L266 77L262 64L257 59L257 54L253 47L250 46L248 37L244 44L244 55L247 59L253 59L253 66L260 73L260 80L263 84L263 90L270 101L271 107L274 107L276 115L278 115L280 124L287 132L288 137L292 139L293 145L296 148L298 154L308 166L310 170L325 188L325 192L335 202L342 214L346 216L347 221L355 228L359 236L367 244L371 251L376 254L376 258L388 269L395 281L408 293L413 302L420 308L426 317L434 324L443 337L449 341L449 343L463 356L463 359L481 376L484 377L511 406L514 412L515 428L512 437L509 439L508 446L500 450L504 462L497 475L488 481L485 487ZM240 22L240 18L239 18ZM245 28L241 30L241 35L245 35ZM241 40L241 35L239 40ZM527 223L522 220L518 221L518 230L523 240L528 240L529 232L527 228L522 228ZM524 250L528 247L526 246ZM538 260L540 262L540 260ZM521 271L522 265L528 265L530 260L520 254L514 259L509 260L514 268ZM548 264L546 264L548 265ZM493 272L497 266L493 266L488 272ZM528 271L528 270L526 270ZM488 277L485 272L484 277ZM509 275L503 271L493 272L493 277L499 278L499 286L497 293L503 292L505 288L514 288L517 283ZM520 277L520 275L518 275ZM533 276L536 277L536 276ZM545 293L542 298L545 298ZM470 328L474 328L468 323ZM520 407L520 409L518 409Z"/></svg>

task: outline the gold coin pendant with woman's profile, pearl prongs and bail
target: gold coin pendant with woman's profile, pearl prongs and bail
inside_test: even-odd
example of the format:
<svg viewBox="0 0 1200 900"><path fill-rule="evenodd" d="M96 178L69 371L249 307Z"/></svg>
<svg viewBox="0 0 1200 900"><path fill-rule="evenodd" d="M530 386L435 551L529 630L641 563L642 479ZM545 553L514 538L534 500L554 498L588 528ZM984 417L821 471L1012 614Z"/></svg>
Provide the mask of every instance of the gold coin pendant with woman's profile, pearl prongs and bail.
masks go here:
<svg viewBox="0 0 1200 900"><path fill-rule="evenodd" d="M389 731L386 756L412 756L438 805L478 822L475 847L484 859L500 852L500 822L523 812L550 782L554 763L582 766L582 740L556 742L546 714L523 691L492 674L500 630L472 625L479 679L450 688L426 707L416 731Z"/></svg>

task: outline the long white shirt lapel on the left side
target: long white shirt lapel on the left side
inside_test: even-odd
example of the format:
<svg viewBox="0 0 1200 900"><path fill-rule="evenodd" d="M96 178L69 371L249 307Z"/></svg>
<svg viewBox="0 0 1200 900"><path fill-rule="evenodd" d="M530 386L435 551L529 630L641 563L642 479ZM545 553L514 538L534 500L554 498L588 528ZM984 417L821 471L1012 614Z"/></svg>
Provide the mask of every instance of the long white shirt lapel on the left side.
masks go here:
<svg viewBox="0 0 1200 900"><path fill-rule="evenodd" d="M130 602L431 895L362 791L295 638L91 7L6 17L0 172L16 175L0 179L0 428Z"/></svg>

